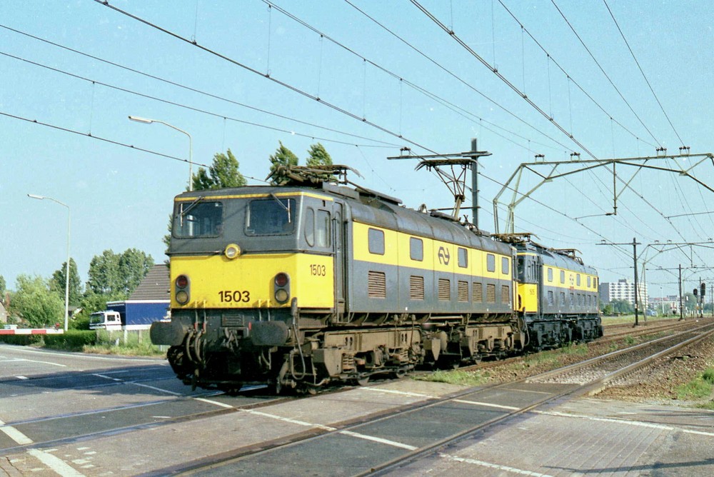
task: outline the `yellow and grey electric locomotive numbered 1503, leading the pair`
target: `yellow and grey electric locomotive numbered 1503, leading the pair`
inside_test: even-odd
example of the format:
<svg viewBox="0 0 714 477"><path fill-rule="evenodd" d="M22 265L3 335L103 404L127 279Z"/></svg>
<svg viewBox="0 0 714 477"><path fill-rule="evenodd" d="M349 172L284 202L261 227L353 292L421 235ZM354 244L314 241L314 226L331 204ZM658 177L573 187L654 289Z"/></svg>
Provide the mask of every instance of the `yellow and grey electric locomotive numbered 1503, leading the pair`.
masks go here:
<svg viewBox="0 0 714 477"><path fill-rule="evenodd" d="M523 349L515 247L336 184L339 166L299 169L286 185L176 196L171 321L151 341L178 378L313 391Z"/></svg>

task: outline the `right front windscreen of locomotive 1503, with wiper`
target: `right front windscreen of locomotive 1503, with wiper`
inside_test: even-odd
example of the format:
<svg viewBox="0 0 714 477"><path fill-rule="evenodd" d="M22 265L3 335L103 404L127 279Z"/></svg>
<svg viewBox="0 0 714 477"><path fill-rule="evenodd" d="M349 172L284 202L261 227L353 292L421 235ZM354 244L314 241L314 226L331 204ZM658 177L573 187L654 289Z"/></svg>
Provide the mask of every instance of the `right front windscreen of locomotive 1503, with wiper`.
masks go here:
<svg viewBox="0 0 714 477"><path fill-rule="evenodd" d="M295 230L295 199L257 199L248 204L246 234L287 235Z"/></svg>

